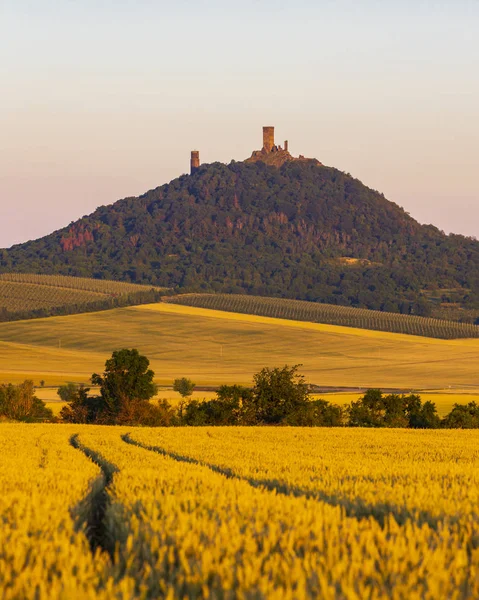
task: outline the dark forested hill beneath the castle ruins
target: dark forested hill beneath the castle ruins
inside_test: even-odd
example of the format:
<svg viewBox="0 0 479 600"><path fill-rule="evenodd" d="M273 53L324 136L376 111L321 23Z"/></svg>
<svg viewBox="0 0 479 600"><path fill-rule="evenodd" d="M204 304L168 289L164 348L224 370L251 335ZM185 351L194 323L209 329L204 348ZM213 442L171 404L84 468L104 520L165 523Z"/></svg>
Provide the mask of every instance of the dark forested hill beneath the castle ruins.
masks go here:
<svg viewBox="0 0 479 600"><path fill-rule="evenodd" d="M476 308L479 242L314 162L214 163L0 250L12 270L427 314Z"/></svg>

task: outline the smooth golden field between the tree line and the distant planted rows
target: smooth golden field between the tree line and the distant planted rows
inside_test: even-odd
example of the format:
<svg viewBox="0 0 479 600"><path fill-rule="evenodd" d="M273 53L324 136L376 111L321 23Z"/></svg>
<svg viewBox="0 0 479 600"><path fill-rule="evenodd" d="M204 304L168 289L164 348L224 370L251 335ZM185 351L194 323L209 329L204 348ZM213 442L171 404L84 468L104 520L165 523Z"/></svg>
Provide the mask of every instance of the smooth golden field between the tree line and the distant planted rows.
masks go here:
<svg viewBox="0 0 479 600"><path fill-rule="evenodd" d="M264 366L301 363L311 383L479 390L479 340L436 340L164 303L0 324L0 378L87 381L135 347L157 381L250 384Z"/></svg>

